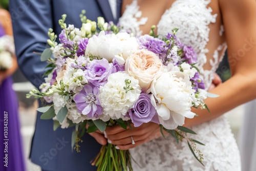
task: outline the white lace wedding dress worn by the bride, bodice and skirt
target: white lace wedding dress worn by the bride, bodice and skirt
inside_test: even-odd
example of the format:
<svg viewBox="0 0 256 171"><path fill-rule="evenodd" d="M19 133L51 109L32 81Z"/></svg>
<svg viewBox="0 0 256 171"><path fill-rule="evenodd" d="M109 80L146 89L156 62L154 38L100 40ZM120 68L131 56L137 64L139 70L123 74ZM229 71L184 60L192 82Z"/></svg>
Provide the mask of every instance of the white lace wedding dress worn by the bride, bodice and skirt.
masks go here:
<svg viewBox="0 0 256 171"><path fill-rule="evenodd" d="M157 26L159 35L165 35L175 27L179 28L177 36L181 42L192 46L198 54L198 68L207 88L226 49L224 27L221 24L215 26L217 14L212 14L209 3L210 0L176 0L162 15ZM141 35L140 26L147 19L142 17L138 2L133 1L126 6L120 24L124 29ZM218 31L210 31L211 27L218 27ZM167 136L166 139L155 139L130 150L138 163L133 163L134 170L241 170L238 146L225 116L191 129L197 135L189 137L205 144L197 145L203 154L205 166L194 158L186 141L177 144L172 136Z"/></svg>

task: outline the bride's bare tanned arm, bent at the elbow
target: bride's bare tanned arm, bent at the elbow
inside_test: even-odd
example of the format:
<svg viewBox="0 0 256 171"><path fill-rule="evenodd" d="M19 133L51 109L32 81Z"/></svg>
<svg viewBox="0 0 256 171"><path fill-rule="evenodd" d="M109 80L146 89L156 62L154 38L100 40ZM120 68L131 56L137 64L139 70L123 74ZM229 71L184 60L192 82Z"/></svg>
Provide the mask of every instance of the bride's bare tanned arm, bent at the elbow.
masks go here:
<svg viewBox="0 0 256 171"><path fill-rule="evenodd" d="M222 0L220 8L232 76L210 91L220 95L218 98L205 100L210 113L206 110L193 109L199 116L186 119L185 126L209 121L256 98L256 2Z"/></svg>

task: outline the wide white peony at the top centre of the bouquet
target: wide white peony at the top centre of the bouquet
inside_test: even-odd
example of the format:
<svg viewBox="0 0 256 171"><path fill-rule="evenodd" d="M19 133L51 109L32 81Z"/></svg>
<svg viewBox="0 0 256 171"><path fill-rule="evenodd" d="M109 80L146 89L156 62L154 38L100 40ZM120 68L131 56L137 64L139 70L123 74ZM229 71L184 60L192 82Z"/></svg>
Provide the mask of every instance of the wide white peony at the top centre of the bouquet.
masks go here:
<svg viewBox="0 0 256 171"><path fill-rule="evenodd" d="M128 33L105 34L101 31L98 36L94 35L89 39L86 55L99 56L111 62L115 55L126 59L138 49L139 44L136 38Z"/></svg>

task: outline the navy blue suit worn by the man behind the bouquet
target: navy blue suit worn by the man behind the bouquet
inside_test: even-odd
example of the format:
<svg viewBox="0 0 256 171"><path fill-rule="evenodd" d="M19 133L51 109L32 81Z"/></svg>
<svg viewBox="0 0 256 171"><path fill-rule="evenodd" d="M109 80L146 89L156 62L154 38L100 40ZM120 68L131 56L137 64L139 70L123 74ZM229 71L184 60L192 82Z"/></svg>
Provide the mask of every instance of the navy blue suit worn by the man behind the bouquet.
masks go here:
<svg viewBox="0 0 256 171"><path fill-rule="evenodd" d="M44 81L46 62L40 61L41 53L46 48L48 29L56 34L61 32L58 20L67 14L66 23L80 28L79 14L86 10L89 19L97 21L103 16L106 21L114 21L108 0L11 0L10 13L14 31L16 55L20 70L39 87ZM117 17L120 16L121 0L117 0ZM41 120L37 114L35 133L31 146L32 162L44 170L96 170L90 161L101 147L94 138L86 134L81 143L81 152L71 151L71 129L53 131L52 120Z"/></svg>

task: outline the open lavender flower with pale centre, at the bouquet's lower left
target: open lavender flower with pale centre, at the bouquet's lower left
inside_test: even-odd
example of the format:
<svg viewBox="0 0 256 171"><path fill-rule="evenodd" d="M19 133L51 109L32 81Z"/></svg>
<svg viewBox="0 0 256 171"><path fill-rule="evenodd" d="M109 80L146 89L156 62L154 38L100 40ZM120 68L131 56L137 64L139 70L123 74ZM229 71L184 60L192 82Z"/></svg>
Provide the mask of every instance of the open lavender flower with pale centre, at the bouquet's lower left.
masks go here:
<svg viewBox="0 0 256 171"><path fill-rule="evenodd" d="M102 114L102 107L97 97L99 93L98 87L92 87L89 84L74 98L77 106L77 111L89 118L98 118Z"/></svg>

